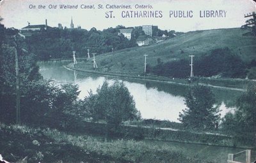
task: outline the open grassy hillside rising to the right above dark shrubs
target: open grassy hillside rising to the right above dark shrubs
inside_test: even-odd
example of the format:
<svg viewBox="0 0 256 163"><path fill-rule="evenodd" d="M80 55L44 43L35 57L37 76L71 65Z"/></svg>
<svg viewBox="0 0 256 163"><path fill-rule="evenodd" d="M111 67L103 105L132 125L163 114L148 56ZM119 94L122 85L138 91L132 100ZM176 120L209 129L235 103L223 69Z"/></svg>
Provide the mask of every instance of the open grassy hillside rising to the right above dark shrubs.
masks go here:
<svg viewBox="0 0 256 163"><path fill-rule="evenodd" d="M214 29L207 31L193 31L167 39L150 46L140 46L118 50L96 56L100 71L115 73L143 73L144 54L150 66L156 66L157 59L162 62L188 59L188 55L195 58L206 55L216 48L228 47L233 53L241 55L244 61L256 59L256 38L243 36L245 29ZM92 69L92 63L79 65L84 69Z"/></svg>

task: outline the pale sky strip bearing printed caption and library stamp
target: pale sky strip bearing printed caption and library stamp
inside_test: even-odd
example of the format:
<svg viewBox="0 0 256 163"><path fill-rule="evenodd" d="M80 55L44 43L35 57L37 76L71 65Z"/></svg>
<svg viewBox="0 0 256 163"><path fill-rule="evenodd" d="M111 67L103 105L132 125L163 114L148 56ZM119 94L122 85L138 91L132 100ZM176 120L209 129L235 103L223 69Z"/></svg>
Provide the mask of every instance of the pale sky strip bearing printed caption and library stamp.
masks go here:
<svg viewBox="0 0 256 163"><path fill-rule="evenodd" d="M60 9L60 5L72 5L76 8ZM38 5L45 8L38 8ZM56 8L51 6L56 5ZM84 9L81 6L94 5L93 9ZM98 8L102 5L103 8ZM131 5L129 9L109 9L106 5ZM136 8L136 6L150 7ZM160 29L175 30L180 32L197 31L205 29L220 29L241 27L246 18L244 14L256 11L255 2L252 0L2 0L0 3L0 16L4 18L1 24L6 27L21 29L28 22L31 25L47 24L57 27L70 27L71 17L74 26L81 25L83 29L90 30L96 27L99 30L108 27L124 25L134 27L140 25L158 25ZM34 8L35 7L35 8ZM106 12L112 18L106 18ZM131 12L152 11L158 17L132 17ZM181 13L174 17L171 13ZM187 13L191 13L188 17ZM212 12L211 17L204 17L204 13ZM225 14L224 14L225 13ZM114 18L115 17L115 18Z"/></svg>

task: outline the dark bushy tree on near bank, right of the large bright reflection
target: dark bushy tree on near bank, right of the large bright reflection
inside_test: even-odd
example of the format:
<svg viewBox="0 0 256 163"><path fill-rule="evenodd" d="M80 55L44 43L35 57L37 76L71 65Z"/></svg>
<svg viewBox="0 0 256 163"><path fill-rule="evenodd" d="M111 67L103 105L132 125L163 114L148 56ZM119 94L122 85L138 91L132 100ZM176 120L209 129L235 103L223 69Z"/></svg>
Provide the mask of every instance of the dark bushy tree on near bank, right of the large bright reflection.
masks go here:
<svg viewBox="0 0 256 163"><path fill-rule="evenodd" d="M220 110L208 87L192 87L185 97L188 108L179 113L180 122L189 129L214 129L220 121Z"/></svg>

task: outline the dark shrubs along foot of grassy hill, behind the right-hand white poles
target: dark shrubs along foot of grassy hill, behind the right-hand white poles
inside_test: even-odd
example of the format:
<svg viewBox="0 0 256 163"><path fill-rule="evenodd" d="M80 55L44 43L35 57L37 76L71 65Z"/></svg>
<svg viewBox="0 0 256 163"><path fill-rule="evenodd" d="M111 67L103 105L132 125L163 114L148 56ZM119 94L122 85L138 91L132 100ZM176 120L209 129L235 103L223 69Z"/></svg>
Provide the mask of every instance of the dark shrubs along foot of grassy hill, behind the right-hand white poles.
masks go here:
<svg viewBox="0 0 256 163"><path fill-rule="evenodd" d="M172 62L162 62L157 59L157 65L148 68L148 73L172 78L187 78L191 67L190 60L180 59ZM253 69L256 61L244 62L239 55L235 55L229 48L212 50L209 55L203 55L193 62L194 76L221 76L228 78L255 78Z"/></svg>

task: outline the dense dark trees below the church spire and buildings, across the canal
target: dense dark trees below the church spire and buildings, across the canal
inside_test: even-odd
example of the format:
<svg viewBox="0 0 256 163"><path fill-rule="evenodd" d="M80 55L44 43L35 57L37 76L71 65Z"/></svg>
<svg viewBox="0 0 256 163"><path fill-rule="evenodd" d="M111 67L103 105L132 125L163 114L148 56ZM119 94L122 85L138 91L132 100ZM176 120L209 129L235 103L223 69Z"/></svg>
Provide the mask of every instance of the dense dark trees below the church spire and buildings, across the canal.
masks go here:
<svg viewBox="0 0 256 163"><path fill-rule="evenodd" d="M112 50L122 50L138 46L136 39L145 35L142 27L135 27L131 33L131 39L127 39L123 34L119 34L119 29L124 29L122 25L115 28L97 30L95 27L87 31L86 29L58 29L51 28L45 31L33 32L32 36L26 38L29 52L35 53L38 60L48 59L68 59L72 58L72 51L76 51L77 57L87 57L88 49L90 53L112 52ZM162 31L158 29L158 36L174 37L182 32Z"/></svg>

